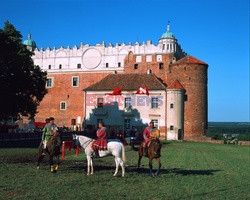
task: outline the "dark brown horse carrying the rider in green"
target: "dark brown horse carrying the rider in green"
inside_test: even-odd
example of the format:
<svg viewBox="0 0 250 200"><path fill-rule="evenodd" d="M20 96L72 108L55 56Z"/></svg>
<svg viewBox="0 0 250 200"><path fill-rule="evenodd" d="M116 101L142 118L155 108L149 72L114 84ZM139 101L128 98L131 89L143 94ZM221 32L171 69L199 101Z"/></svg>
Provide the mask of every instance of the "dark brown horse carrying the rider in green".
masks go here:
<svg viewBox="0 0 250 200"><path fill-rule="evenodd" d="M61 136L60 136L59 132L56 131L55 133L51 134L51 136L47 142L47 148L46 148L46 152L49 155L50 171L52 173L57 172L57 170L59 168L60 148L61 148ZM53 161L54 156L57 158L57 164L55 167L54 167L54 161ZM44 158L43 145L41 145L39 147L39 157L38 157L37 169L40 169L40 163L42 162L43 158Z"/></svg>

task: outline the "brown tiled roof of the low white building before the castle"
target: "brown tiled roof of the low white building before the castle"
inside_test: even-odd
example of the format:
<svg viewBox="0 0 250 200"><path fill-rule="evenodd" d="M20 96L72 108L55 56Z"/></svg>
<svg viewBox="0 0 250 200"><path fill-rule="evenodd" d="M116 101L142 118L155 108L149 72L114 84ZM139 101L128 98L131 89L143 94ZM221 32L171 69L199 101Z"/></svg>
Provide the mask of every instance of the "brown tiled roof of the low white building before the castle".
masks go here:
<svg viewBox="0 0 250 200"><path fill-rule="evenodd" d="M166 90L166 86L154 74L110 74L84 91L107 91L121 88L123 91L147 87L149 90Z"/></svg>

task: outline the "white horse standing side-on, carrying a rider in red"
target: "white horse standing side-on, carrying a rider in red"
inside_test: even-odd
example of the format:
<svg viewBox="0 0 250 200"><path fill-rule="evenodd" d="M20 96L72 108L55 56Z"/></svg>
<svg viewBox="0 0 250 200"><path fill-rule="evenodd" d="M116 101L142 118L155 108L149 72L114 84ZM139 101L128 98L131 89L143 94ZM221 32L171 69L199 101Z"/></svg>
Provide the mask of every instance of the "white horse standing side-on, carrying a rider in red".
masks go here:
<svg viewBox="0 0 250 200"><path fill-rule="evenodd" d="M91 148L91 143L93 142L93 139L82 135L73 135L73 140L76 146L81 146L85 151L85 154L87 156L87 175L93 174L94 173L93 155L95 154L93 149ZM112 154L115 157L116 168L114 176L117 175L118 168L120 165L122 168L122 177L124 177L125 175L124 163L126 157L123 144L118 140L108 141L107 150L99 151L99 156L104 157L110 154Z"/></svg>

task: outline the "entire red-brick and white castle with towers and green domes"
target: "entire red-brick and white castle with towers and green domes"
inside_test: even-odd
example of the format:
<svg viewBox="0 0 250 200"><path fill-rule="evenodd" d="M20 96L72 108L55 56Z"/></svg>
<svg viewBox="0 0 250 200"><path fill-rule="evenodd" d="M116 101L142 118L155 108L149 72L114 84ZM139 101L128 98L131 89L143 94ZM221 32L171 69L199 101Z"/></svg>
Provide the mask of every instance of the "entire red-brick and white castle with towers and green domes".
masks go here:
<svg viewBox="0 0 250 200"><path fill-rule="evenodd" d="M38 122L49 116L67 127L103 121L125 132L141 131L153 120L165 139L206 133L208 65L181 49L170 25L157 45L149 40L38 50L30 35L24 44L48 74Z"/></svg>

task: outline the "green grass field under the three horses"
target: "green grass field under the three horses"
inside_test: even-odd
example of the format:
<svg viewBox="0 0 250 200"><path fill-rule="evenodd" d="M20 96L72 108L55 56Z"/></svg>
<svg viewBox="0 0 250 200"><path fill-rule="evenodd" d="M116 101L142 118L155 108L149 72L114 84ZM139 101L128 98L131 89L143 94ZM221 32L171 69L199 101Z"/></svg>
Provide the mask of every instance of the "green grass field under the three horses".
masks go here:
<svg viewBox="0 0 250 200"><path fill-rule="evenodd" d="M37 149L0 150L0 199L250 199L249 147L193 142L164 143L162 170L149 177L148 159L137 173L138 152L126 148L125 177L113 177L114 159L95 159L86 176L81 152L66 152L56 174L48 159L36 169ZM157 162L153 163L154 168Z"/></svg>

